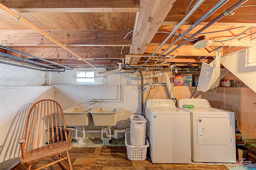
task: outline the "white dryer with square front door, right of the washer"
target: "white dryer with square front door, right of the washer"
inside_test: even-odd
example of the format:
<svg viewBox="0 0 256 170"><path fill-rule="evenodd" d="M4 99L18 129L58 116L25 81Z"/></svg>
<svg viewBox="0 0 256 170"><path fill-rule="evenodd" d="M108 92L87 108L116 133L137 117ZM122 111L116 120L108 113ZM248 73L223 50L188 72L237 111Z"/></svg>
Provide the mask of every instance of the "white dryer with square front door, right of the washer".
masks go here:
<svg viewBox="0 0 256 170"><path fill-rule="evenodd" d="M234 112L211 107L206 99L180 99L178 106L190 112L194 162L236 162Z"/></svg>

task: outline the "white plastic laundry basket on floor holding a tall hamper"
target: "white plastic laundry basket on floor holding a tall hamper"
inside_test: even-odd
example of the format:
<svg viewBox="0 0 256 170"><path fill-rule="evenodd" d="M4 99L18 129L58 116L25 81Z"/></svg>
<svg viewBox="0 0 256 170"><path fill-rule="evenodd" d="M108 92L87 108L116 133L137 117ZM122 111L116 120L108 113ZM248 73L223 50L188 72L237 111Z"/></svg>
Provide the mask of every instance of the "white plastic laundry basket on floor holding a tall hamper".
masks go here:
<svg viewBox="0 0 256 170"><path fill-rule="evenodd" d="M146 145L141 145L140 148L130 145L130 131L125 132L125 146L127 149L127 157L129 160L145 160L147 148L149 147L148 139Z"/></svg>

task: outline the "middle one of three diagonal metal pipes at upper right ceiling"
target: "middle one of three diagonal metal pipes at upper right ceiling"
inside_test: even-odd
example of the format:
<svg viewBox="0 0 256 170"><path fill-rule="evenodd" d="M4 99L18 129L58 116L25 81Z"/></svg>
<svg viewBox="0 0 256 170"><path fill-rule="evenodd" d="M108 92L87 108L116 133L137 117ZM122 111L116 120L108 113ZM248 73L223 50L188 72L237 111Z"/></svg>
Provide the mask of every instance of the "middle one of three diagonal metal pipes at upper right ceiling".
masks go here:
<svg viewBox="0 0 256 170"><path fill-rule="evenodd" d="M162 53L160 53L158 56L160 57L164 52L166 52L172 45L174 45L176 42L180 41L180 39L182 39L189 31L191 31L192 29L194 29L197 25L199 25L200 23L202 23L202 21L204 21L206 18L208 18L210 15L212 15L214 12L216 12L216 10L218 10L220 7L222 7L224 4L226 4L226 2L228 2L229 0L221 0L220 2L218 2L218 4L216 4L212 9L210 9L206 14L204 14L204 16L202 16L198 21L196 21L193 25L191 25L189 27L189 29L187 29L182 35L178 36L178 38L171 43L164 51L162 51ZM161 57L160 59L158 59L157 61L155 61L155 63L157 63L158 61L160 61L161 59L163 59L164 57Z"/></svg>

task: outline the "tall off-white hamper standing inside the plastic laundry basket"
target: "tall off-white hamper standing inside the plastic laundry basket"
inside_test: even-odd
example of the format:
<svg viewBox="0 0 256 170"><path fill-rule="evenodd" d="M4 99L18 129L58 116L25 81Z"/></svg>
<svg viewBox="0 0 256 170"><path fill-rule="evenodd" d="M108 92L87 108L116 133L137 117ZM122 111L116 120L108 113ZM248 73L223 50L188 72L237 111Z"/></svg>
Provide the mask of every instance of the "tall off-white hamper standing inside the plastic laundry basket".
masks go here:
<svg viewBox="0 0 256 170"><path fill-rule="evenodd" d="M130 115L130 144L136 148L145 145L146 122L142 115Z"/></svg>

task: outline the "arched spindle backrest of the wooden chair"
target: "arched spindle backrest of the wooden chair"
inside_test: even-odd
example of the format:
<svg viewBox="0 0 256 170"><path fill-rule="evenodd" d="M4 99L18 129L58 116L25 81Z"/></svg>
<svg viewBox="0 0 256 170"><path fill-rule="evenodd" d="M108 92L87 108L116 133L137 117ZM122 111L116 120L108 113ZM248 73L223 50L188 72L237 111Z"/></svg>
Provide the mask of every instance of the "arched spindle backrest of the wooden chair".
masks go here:
<svg viewBox="0 0 256 170"><path fill-rule="evenodd" d="M25 152L56 142L66 141L62 108L50 99L36 102L28 113L25 130Z"/></svg>

